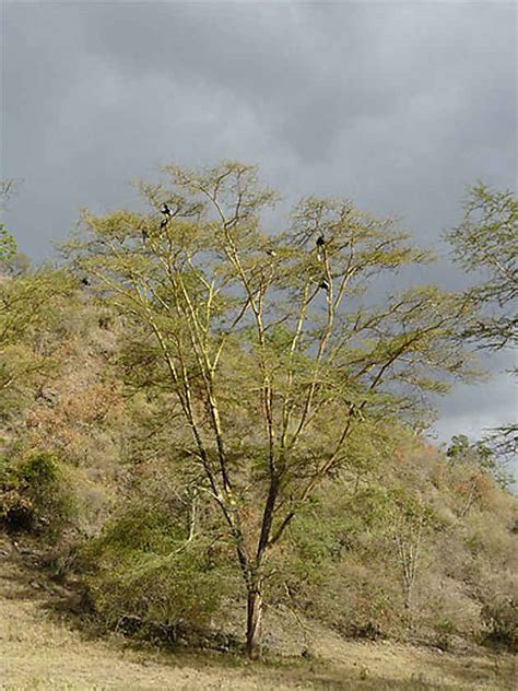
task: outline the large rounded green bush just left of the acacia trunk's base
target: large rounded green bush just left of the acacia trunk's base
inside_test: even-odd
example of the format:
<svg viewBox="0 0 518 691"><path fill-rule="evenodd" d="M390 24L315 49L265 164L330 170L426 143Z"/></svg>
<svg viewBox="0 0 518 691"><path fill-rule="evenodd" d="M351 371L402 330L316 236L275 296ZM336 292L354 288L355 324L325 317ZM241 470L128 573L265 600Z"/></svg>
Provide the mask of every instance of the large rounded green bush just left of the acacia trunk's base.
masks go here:
<svg viewBox="0 0 518 691"><path fill-rule="evenodd" d="M165 506L123 508L76 560L104 625L169 642L207 628L238 587L229 563L214 541L187 541L181 516Z"/></svg>

